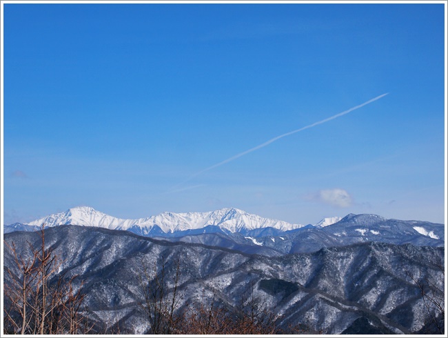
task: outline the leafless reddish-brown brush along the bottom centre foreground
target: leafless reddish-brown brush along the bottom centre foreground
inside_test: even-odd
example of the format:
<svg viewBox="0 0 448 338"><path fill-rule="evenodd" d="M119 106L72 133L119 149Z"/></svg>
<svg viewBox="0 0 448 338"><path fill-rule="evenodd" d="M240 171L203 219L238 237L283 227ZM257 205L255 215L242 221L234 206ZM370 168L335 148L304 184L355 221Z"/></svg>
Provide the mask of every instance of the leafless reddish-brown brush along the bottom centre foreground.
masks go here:
<svg viewBox="0 0 448 338"><path fill-rule="evenodd" d="M280 333L278 316L267 310L256 296L254 285L238 302L230 306L211 299L198 304L183 304L179 259L168 272L167 261L160 259L147 268L142 263L140 288L141 307L145 311L148 334L152 335L269 335ZM170 277L169 277L170 276Z"/></svg>

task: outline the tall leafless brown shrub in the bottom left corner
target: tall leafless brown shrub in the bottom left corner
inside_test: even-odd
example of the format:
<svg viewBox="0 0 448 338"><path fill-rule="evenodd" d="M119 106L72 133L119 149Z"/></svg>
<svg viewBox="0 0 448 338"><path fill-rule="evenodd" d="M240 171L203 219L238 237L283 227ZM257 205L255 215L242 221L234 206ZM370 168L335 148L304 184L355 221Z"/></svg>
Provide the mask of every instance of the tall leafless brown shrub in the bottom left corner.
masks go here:
<svg viewBox="0 0 448 338"><path fill-rule="evenodd" d="M28 242L29 255L23 257L14 243L6 248L14 257L14 269L6 268L10 284L4 284L4 333L21 335L54 335L87 333L90 328L81 316L85 295L83 281L74 287L77 276L66 279L59 275L57 282L50 279L59 270L62 261L51 248L45 248L44 224L39 230L40 248Z"/></svg>

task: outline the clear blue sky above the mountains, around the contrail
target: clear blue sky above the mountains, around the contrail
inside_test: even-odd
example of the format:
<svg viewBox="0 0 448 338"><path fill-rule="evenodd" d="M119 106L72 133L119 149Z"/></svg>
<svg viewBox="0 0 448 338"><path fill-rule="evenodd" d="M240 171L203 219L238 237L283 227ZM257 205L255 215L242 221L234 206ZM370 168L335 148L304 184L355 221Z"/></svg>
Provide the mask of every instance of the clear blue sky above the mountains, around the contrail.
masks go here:
<svg viewBox="0 0 448 338"><path fill-rule="evenodd" d="M444 223L443 4L6 3L3 24L7 224L74 206Z"/></svg>

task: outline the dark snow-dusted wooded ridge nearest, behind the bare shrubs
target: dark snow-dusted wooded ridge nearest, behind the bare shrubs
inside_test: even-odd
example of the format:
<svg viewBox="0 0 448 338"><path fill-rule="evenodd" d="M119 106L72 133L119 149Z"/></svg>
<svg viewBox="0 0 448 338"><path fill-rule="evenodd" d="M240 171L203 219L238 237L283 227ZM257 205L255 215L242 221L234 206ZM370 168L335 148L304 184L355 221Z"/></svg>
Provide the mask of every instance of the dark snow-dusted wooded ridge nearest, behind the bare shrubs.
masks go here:
<svg viewBox="0 0 448 338"><path fill-rule="evenodd" d="M20 271L8 247L14 243L17 255L27 257L41 237L12 232L4 238L4 264L12 272L5 273L5 284L13 286ZM177 292L176 316L210 309L212 301L236 313L256 299L256 308L273 316L275 332L437 333L431 323L442 321L422 296L423 288L444 301L436 292L444 290L442 247L369 241L267 257L81 226L46 229L45 246L60 262L48 283L77 276L73 288L85 295L79 312L99 333L152 332L142 286L154 284L162 268L165 297Z"/></svg>

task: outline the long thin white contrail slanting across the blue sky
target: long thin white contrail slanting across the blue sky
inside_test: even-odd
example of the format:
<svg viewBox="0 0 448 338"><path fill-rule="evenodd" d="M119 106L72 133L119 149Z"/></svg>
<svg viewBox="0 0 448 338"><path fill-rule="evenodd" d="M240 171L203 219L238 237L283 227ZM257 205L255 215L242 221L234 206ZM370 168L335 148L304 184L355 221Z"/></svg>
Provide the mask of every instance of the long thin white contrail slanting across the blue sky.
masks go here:
<svg viewBox="0 0 448 338"><path fill-rule="evenodd" d="M238 159L239 157L242 157L242 156L244 156L244 155L249 154L250 152L253 152L253 151L258 150L258 149L261 149L261 148L264 148L265 146L268 146L269 144L271 144L271 143L273 143L273 142L275 142L275 141L277 141L277 140L279 140L279 139L283 139L283 137L287 137L287 136L289 136L289 135L296 134L296 132L301 132L302 130L309 129L309 128L318 126L319 124L322 124L322 123L325 123L325 122L328 122L328 121L332 121L332 120L334 120L334 119L337 119L338 117L341 117L341 116L343 116L343 115L346 115L346 114L348 114L349 112L352 112L352 111L354 111L354 110L356 110L356 109L359 109L359 108L361 108L361 107L363 107L363 106L365 106L365 105L367 105L367 104L369 104L369 103L372 103L372 102L374 102L374 101L376 101L376 100L379 100L379 99L381 99L382 97L385 97L387 94L389 94L389 93L387 92L387 93L385 93L385 94L383 94L383 95L380 95L380 96L378 96L378 97L375 97L374 99L370 99L369 101L366 101L366 102L364 102L364 103L361 103L361 104L358 105L358 106L354 106L353 108L350 108L350 109L347 109L347 110L345 110L345 111L343 111L343 112L340 112L339 114L333 115L332 117L328 117L327 119L323 119L323 120L321 120L321 121L314 122L314 123L310 124L309 126L306 126L306 127L300 128L300 129L296 129L296 130L292 130L292 132L287 132L287 133L285 133L285 134L283 134L283 135L279 135L279 136L277 136L277 137L274 137L273 139L269 139L269 141L266 141L265 143L261 143L260 145L254 147L254 148L250 148L249 150L240 152L238 155L232 156L232 157L230 157L229 159L225 159L224 161L221 161L221 162L219 162L219 163L216 163L216 164L214 164L214 165L211 166L211 167L208 167L208 168L205 168L205 169L203 169L203 170L201 170L201 171L199 171L199 172L196 172L196 174L194 174L194 175L188 177L188 179L186 179L183 183L185 183L186 181L190 181L190 179L192 179L193 177L196 177L196 176L198 176L198 175L201 175L201 174L203 174L204 172L207 172L207 171L212 170L212 169L214 169L214 168L218 168L218 167L222 166L222 165L225 164L225 163L232 162L232 161Z"/></svg>

